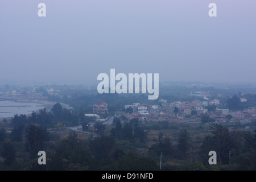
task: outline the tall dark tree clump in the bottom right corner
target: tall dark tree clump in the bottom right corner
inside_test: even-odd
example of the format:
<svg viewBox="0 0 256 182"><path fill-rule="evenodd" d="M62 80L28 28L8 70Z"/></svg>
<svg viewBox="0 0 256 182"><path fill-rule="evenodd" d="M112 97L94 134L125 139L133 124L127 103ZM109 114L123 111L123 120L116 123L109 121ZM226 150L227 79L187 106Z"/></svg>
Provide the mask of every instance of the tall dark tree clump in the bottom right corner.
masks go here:
<svg viewBox="0 0 256 182"><path fill-rule="evenodd" d="M226 170L256 170L256 130L232 130L213 123L212 133L207 135L201 145L201 154L216 151L217 162ZM230 158L229 158L230 155ZM208 166L208 157L204 164Z"/></svg>

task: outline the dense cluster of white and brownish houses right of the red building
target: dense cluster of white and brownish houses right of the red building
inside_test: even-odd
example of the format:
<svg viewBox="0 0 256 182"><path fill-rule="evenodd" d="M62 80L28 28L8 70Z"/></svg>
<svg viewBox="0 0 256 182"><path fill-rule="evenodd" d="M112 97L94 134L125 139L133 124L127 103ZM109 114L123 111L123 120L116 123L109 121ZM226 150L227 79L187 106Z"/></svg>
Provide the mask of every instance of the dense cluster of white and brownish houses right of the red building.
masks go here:
<svg viewBox="0 0 256 182"><path fill-rule="evenodd" d="M214 110L208 111L208 106L213 106ZM209 101L175 101L168 103L167 100L160 99L158 105L144 105L133 103L125 105L125 109L133 109L133 113L127 112L123 114L127 119L138 118L140 121L168 121L175 119L176 121L200 121L200 114L207 113L210 117L216 119L217 122L244 121L249 122L251 118L255 118L256 107L249 107L242 111L230 111L229 109L219 109L220 100L213 99ZM231 115L232 119L228 119L226 115Z"/></svg>

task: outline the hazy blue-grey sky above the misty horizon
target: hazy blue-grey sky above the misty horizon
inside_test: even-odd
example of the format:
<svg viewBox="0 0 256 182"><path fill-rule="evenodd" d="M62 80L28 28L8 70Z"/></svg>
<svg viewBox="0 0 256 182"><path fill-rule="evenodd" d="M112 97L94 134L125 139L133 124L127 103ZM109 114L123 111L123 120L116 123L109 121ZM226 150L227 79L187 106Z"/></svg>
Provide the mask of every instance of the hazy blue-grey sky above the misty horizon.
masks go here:
<svg viewBox="0 0 256 182"><path fill-rule="evenodd" d="M110 68L255 83L256 1L0 0L1 81L97 84Z"/></svg>

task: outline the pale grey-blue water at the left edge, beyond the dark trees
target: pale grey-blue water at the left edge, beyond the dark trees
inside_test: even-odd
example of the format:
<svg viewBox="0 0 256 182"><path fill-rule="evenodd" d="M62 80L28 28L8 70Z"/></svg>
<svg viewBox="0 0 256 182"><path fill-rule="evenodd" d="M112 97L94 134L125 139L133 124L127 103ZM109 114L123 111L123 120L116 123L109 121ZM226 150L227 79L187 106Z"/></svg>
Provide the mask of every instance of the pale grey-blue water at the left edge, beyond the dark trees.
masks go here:
<svg viewBox="0 0 256 182"><path fill-rule="evenodd" d="M32 111L44 107L46 105L39 102L0 101L0 118L14 117L14 114L31 114Z"/></svg>

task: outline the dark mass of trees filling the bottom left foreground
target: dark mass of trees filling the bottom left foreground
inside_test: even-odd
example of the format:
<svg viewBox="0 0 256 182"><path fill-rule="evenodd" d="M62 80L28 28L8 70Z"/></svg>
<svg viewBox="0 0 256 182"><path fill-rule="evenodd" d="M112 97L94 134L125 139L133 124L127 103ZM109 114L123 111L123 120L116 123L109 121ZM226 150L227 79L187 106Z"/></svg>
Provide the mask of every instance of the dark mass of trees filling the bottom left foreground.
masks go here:
<svg viewBox="0 0 256 182"><path fill-rule="evenodd" d="M1 131L2 133L2 131ZM0 134L1 134L0 133ZM5 136L7 137L7 136ZM49 133L30 125L26 142L5 138L0 144L1 170L157 170L158 165L135 150L123 150L114 137L80 139L75 132L67 138L49 142ZM46 165L38 164L37 152L46 152Z"/></svg>

